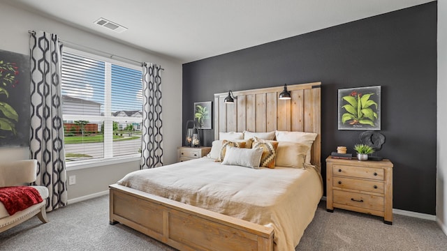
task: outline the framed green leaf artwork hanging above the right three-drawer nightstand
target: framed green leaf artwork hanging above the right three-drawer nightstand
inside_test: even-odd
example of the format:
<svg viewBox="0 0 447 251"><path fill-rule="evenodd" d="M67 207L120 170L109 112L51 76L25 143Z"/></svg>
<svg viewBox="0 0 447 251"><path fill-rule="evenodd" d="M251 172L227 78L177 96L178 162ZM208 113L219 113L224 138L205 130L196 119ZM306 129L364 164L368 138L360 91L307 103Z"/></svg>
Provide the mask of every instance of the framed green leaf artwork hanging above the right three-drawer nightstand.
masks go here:
<svg viewBox="0 0 447 251"><path fill-rule="evenodd" d="M381 86L338 90L338 130L381 130Z"/></svg>

